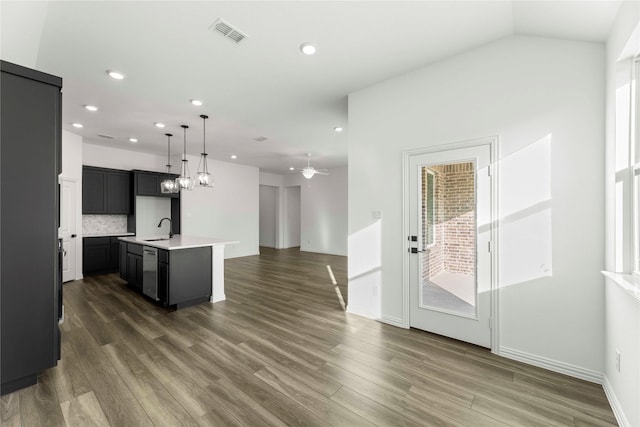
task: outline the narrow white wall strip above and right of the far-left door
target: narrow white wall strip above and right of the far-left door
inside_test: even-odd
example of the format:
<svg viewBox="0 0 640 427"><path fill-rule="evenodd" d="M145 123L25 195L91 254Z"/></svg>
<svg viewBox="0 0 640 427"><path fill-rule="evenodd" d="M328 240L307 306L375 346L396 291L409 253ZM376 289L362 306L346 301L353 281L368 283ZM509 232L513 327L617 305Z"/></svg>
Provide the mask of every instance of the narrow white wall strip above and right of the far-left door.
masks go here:
<svg viewBox="0 0 640 427"><path fill-rule="evenodd" d="M82 137L62 131L62 176L76 180L76 274L82 279Z"/></svg>

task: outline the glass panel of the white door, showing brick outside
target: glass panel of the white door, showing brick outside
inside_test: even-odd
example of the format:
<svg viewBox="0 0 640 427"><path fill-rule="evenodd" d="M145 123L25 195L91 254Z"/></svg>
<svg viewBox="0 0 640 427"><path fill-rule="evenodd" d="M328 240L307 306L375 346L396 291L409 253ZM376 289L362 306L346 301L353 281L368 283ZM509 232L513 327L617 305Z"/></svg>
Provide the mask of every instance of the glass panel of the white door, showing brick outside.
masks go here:
<svg viewBox="0 0 640 427"><path fill-rule="evenodd" d="M420 308L476 317L475 162L422 166Z"/></svg>

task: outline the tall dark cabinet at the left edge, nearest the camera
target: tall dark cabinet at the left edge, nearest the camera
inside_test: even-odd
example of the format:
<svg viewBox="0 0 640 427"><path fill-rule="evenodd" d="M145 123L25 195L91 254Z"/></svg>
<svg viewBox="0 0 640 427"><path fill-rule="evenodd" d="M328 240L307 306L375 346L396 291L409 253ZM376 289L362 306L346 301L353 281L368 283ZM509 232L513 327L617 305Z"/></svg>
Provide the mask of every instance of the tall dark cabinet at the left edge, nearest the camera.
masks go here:
<svg viewBox="0 0 640 427"><path fill-rule="evenodd" d="M1 394L60 357L62 79L0 61Z"/></svg>

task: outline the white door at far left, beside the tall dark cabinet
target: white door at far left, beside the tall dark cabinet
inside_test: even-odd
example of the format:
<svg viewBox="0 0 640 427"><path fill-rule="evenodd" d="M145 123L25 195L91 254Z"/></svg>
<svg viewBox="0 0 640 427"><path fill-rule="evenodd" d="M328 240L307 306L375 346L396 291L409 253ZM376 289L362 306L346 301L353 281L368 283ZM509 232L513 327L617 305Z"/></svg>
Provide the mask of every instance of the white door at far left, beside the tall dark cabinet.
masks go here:
<svg viewBox="0 0 640 427"><path fill-rule="evenodd" d="M76 278L76 202L77 182L74 179L62 178L60 183L60 230L62 239L62 281L68 282Z"/></svg>

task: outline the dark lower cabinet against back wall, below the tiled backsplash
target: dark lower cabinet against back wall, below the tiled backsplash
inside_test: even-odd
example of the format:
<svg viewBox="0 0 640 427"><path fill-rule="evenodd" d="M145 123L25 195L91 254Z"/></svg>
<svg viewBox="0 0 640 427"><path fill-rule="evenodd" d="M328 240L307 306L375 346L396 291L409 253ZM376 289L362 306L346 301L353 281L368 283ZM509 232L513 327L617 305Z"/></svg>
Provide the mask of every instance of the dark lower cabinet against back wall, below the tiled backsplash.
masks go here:
<svg viewBox="0 0 640 427"><path fill-rule="evenodd" d="M82 239L82 274L106 274L118 271L120 242L117 237L85 237Z"/></svg>

